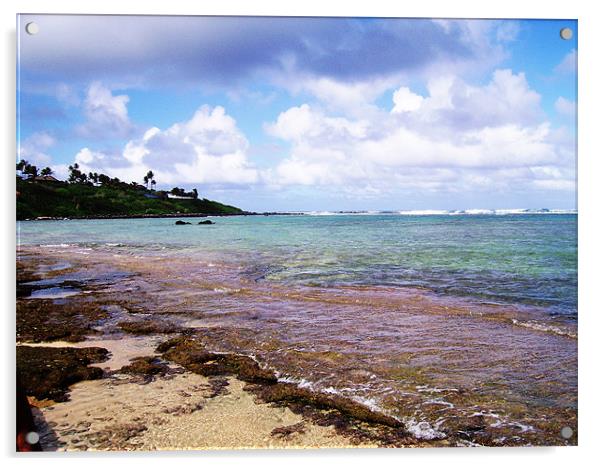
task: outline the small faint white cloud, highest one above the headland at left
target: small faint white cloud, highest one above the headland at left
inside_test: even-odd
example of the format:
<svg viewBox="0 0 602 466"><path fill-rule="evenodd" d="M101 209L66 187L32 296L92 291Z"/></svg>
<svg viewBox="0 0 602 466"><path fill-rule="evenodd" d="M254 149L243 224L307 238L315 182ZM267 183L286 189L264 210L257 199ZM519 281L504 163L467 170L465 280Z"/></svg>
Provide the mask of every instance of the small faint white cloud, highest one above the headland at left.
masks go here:
<svg viewBox="0 0 602 466"><path fill-rule="evenodd" d="M78 127L81 136L89 138L127 137L133 130L128 116L127 95L113 95L100 82L88 87L83 112L86 122Z"/></svg>

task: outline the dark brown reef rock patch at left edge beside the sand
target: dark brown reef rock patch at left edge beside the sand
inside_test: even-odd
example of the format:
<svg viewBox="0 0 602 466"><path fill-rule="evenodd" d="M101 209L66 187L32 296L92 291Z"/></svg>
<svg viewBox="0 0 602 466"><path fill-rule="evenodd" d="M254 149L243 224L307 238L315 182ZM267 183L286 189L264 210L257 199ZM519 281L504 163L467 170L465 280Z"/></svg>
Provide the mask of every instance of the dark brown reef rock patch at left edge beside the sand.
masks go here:
<svg viewBox="0 0 602 466"><path fill-rule="evenodd" d="M67 401L69 386L82 380L100 379L99 367L108 359L105 348L51 348L17 346L17 373L25 393L39 400Z"/></svg>

